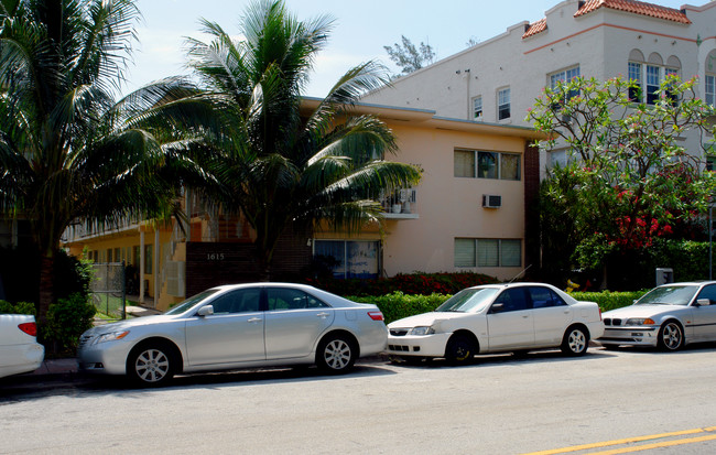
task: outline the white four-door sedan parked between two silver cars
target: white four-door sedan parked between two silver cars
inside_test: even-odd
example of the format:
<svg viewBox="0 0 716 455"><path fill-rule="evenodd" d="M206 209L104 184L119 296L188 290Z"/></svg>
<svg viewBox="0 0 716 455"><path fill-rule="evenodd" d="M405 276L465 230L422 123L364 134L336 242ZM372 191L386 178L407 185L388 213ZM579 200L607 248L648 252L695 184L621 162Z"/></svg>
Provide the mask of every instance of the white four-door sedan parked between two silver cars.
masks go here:
<svg viewBox="0 0 716 455"><path fill-rule="evenodd" d="M404 360L444 357L467 362L476 354L561 347L587 351L604 333L599 306L542 283L465 289L434 312L388 325L388 353Z"/></svg>

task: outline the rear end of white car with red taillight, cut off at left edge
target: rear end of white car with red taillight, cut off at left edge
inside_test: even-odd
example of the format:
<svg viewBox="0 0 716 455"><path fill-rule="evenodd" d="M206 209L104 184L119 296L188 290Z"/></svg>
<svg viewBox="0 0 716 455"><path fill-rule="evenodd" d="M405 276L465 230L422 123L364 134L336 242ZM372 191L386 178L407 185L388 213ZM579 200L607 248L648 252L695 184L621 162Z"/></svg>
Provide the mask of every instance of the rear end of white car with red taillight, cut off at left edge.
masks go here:
<svg viewBox="0 0 716 455"><path fill-rule="evenodd" d="M45 348L36 336L34 316L0 314L0 378L40 368Z"/></svg>

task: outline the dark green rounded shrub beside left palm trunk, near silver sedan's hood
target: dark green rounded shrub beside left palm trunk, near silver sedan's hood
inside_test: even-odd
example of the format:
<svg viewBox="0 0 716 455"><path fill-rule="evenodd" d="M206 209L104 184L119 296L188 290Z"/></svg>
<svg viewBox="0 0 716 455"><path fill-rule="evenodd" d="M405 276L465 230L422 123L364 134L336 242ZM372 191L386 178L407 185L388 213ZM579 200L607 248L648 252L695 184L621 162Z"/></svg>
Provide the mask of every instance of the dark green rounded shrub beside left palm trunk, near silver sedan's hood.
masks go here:
<svg viewBox="0 0 716 455"><path fill-rule="evenodd" d="M45 348L53 354L74 355L79 336L91 328L95 313L95 305L80 293L50 305L47 324L42 331Z"/></svg>

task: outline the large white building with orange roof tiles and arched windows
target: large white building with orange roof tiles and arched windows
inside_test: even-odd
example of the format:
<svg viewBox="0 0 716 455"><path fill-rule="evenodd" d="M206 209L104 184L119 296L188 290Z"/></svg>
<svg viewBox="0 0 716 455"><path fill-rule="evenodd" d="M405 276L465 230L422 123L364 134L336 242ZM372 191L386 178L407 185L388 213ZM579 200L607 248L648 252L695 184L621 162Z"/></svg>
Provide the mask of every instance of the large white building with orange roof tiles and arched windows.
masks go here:
<svg viewBox="0 0 716 455"><path fill-rule="evenodd" d="M633 0L566 0L365 97L367 102L434 109L438 116L529 126L545 86L574 76L630 77L644 100L666 74L698 77L697 96L716 97L716 2L681 10ZM692 134L685 147L701 153ZM565 152L541 156L550 165Z"/></svg>

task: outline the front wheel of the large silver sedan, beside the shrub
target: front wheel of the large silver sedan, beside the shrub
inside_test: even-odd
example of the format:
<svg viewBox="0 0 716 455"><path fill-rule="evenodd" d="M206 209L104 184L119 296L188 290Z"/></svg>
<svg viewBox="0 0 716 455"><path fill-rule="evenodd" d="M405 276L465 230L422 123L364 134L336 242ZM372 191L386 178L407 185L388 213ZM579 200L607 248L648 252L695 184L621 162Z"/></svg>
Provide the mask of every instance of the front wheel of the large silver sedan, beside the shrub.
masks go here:
<svg viewBox="0 0 716 455"><path fill-rule="evenodd" d="M140 386L162 386L174 376L174 350L166 343L135 347L127 359L127 375Z"/></svg>

